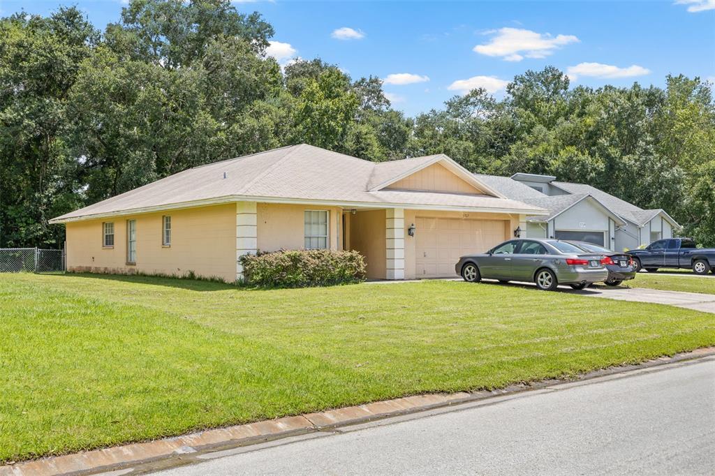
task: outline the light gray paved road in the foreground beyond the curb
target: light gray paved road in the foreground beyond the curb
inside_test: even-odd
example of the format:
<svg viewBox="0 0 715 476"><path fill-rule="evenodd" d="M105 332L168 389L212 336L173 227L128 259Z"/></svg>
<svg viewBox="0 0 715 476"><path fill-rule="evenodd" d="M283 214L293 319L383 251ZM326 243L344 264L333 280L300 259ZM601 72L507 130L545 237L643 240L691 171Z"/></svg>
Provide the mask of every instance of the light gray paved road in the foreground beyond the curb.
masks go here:
<svg viewBox="0 0 715 476"><path fill-rule="evenodd" d="M163 474L715 473L712 357L459 408Z"/></svg>

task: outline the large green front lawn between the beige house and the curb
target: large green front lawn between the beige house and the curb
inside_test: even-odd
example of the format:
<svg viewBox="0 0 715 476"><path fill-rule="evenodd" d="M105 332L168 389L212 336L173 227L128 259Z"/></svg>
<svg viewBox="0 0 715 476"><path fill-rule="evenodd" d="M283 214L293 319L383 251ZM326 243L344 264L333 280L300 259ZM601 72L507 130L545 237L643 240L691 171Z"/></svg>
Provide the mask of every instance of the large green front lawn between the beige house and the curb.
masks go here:
<svg viewBox="0 0 715 476"><path fill-rule="evenodd" d="M448 281L0 274L0 315L0 461L715 344L713 314Z"/></svg>

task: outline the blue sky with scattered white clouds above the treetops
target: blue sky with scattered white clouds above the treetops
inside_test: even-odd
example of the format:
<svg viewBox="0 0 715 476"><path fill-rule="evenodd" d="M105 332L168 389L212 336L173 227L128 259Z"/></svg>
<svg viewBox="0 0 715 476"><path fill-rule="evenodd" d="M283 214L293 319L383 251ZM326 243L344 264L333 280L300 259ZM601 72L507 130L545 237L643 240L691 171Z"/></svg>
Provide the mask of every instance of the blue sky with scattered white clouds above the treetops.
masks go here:
<svg viewBox="0 0 715 476"><path fill-rule="evenodd" d="M49 14L77 4L99 28L120 0L0 0L0 14ZM413 115L471 87L496 96L527 69L551 64L572 84L664 85L667 74L715 80L715 0L251 1L275 27L280 62L319 56L353 78L386 79L393 106ZM390 76L395 75L395 76Z"/></svg>

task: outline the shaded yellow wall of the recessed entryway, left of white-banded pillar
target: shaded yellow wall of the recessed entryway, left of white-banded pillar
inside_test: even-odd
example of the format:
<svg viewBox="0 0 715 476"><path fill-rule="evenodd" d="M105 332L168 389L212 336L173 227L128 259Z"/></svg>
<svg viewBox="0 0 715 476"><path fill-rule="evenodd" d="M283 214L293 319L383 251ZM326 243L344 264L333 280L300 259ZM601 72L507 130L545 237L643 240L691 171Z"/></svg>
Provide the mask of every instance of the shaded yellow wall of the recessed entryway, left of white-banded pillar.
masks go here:
<svg viewBox="0 0 715 476"><path fill-rule="evenodd" d="M365 257L370 279L385 279L387 267L385 219L385 210L369 210L350 215L350 248Z"/></svg>

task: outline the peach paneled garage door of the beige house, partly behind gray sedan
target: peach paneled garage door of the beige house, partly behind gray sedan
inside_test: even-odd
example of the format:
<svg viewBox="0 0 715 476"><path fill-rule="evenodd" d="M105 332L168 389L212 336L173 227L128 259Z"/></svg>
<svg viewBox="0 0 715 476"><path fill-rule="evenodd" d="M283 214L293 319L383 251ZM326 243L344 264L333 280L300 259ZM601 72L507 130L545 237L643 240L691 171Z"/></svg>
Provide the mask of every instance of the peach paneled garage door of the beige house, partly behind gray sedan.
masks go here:
<svg viewBox="0 0 715 476"><path fill-rule="evenodd" d="M505 240L504 220L417 217L416 277L455 276L454 265L465 254L483 253Z"/></svg>

